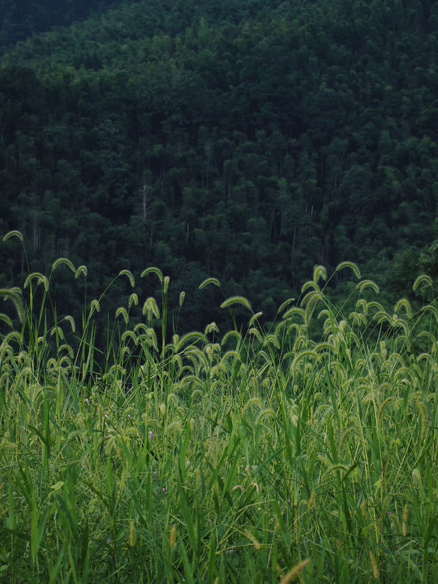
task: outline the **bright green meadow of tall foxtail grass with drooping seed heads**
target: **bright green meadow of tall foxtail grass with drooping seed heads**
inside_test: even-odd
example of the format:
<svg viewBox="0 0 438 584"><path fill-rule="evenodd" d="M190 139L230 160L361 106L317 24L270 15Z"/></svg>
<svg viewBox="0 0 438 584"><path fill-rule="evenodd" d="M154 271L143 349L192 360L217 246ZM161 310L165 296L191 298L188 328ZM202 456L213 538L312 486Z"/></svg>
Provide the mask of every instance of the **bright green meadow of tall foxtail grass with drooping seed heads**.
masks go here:
<svg viewBox="0 0 438 584"><path fill-rule="evenodd" d="M1 290L1 581L438 581L435 301L388 311L344 262L340 305L316 266L269 327L234 296L229 331L168 334L147 268L161 297L133 292L103 349L99 299L51 305L59 266L86 278L60 258Z"/></svg>

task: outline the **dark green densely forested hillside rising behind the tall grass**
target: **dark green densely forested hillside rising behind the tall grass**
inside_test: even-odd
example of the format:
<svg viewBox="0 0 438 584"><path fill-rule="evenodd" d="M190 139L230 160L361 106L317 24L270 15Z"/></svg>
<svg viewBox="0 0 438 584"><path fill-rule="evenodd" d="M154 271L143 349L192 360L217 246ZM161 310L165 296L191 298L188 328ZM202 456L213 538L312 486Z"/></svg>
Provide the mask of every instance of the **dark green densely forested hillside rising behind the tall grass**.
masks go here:
<svg viewBox="0 0 438 584"><path fill-rule="evenodd" d="M315 264L357 262L389 298L437 275L437 3L53 5L0 15L0 232L31 270L86 264L90 301L156 265L185 329L220 325L209 276L269 320ZM0 259L22 285L23 250ZM72 312L83 281L61 276Z"/></svg>

